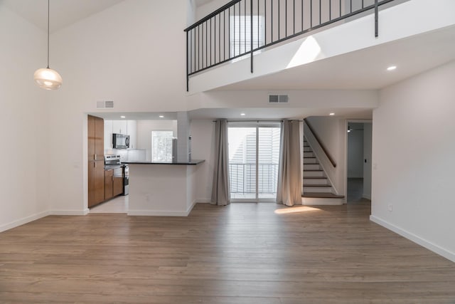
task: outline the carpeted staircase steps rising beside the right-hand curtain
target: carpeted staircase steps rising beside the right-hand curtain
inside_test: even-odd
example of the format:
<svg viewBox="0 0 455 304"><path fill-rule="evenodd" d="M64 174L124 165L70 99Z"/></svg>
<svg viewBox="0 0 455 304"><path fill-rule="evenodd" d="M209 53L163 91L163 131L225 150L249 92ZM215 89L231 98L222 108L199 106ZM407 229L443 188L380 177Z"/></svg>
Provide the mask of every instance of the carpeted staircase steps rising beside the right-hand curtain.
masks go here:
<svg viewBox="0 0 455 304"><path fill-rule="evenodd" d="M304 137L304 187L302 204L343 204L344 196L335 194L319 160Z"/></svg>

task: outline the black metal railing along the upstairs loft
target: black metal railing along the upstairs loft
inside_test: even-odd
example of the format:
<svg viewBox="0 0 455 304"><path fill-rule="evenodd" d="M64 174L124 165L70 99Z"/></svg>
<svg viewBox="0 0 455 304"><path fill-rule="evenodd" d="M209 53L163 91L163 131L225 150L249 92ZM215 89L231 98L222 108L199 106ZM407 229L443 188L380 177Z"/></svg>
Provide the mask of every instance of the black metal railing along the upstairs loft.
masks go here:
<svg viewBox="0 0 455 304"><path fill-rule="evenodd" d="M233 0L185 29L189 77L394 0Z"/></svg>

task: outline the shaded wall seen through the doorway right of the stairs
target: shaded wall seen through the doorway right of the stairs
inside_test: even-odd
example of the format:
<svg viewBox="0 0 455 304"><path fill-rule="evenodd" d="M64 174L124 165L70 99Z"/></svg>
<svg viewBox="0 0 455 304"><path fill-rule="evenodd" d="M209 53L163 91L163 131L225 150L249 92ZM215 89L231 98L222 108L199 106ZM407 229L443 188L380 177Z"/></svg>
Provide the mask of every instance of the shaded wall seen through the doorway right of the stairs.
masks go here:
<svg viewBox="0 0 455 304"><path fill-rule="evenodd" d="M363 178L363 123L348 125L348 178Z"/></svg>

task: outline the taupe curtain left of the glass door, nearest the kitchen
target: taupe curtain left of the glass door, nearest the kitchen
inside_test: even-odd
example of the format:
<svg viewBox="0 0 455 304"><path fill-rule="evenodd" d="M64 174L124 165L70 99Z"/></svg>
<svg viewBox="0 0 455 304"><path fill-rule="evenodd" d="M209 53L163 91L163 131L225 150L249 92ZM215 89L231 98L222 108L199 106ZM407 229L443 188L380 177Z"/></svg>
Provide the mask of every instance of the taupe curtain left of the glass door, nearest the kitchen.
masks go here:
<svg viewBox="0 0 455 304"><path fill-rule="evenodd" d="M228 121L215 122L215 166L213 172L211 204L225 206L230 204Z"/></svg>

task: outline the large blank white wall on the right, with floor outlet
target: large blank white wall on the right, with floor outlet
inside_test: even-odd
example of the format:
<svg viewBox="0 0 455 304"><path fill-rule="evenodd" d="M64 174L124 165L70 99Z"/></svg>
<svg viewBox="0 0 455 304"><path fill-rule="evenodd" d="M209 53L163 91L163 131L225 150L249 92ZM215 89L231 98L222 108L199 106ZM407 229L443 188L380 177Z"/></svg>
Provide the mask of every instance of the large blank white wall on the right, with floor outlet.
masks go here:
<svg viewBox="0 0 455 304"><path fill-rule="evenodd" d="M451 62L381 90L373 112L371 216L452 261L454 79Z"/></svg>

